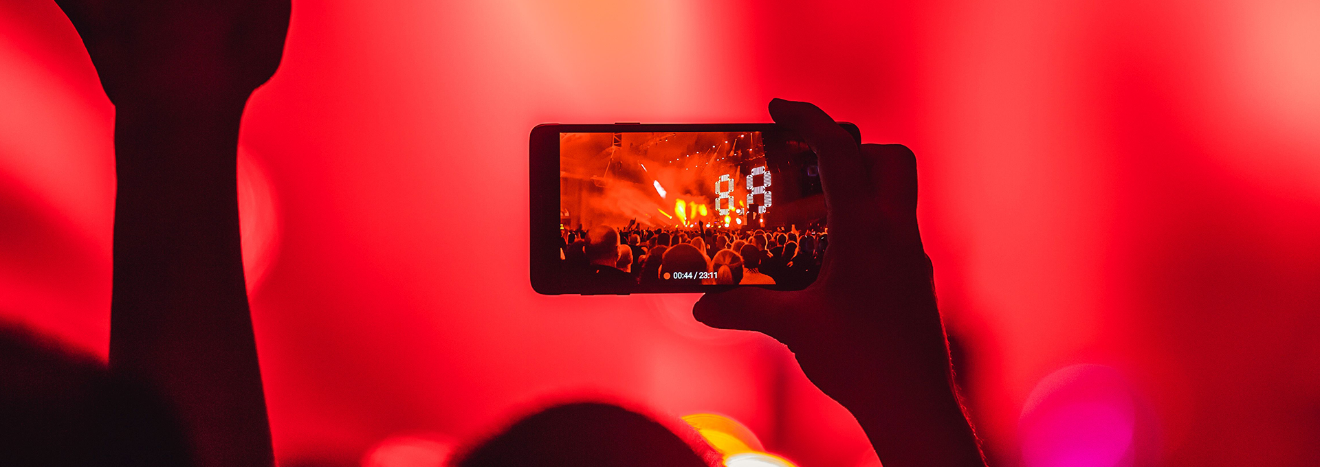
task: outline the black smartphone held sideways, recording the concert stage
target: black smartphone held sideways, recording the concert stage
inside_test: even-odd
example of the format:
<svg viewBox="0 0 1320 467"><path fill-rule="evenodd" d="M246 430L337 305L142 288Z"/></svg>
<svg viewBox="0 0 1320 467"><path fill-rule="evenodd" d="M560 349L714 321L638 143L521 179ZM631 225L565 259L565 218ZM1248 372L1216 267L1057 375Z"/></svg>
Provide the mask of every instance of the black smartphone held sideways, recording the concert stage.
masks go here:
<svg viewBox="0 0 1320 467"><path fill-rule="evenodd" d="M784 127L543 124L529 146L537 293L797 290L820 273L816 153Z"/></svg>

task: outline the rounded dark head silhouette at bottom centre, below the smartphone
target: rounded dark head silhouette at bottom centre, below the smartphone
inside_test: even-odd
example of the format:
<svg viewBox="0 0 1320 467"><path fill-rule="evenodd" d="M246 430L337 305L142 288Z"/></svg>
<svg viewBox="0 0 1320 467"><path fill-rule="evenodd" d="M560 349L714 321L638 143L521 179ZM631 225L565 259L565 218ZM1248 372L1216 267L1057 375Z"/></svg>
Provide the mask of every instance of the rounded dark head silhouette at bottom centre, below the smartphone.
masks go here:
<svg viewBox="0 0 1320 467"><path fill-rule="evenodd" d="M696 430L675 434L647 416L594 402L523 418L459 456L457 467L711 467L719 455Z"/></svg>

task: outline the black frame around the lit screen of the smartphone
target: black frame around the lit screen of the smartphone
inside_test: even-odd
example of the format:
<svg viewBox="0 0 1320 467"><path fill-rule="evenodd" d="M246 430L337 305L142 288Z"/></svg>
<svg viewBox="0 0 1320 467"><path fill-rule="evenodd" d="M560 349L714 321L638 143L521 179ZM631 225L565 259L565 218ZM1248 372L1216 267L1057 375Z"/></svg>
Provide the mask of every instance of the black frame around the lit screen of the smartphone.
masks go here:
<svg viewBox="0 0 1320 467"><path fill-rule="evenodd" d="M851 123L840 123L861 144L862 133ZM634 293L706 293L733 288L787 289L779 285L659 285L636 286L630 290L569 289L560 281L560 133L652 133L652 132L783 132L774 123L713 123L713 124L557 124L546 123L532 128L529 142L528 182L531 207L531 282L532 290L546 296L583 294L626 296Z"/></svg>

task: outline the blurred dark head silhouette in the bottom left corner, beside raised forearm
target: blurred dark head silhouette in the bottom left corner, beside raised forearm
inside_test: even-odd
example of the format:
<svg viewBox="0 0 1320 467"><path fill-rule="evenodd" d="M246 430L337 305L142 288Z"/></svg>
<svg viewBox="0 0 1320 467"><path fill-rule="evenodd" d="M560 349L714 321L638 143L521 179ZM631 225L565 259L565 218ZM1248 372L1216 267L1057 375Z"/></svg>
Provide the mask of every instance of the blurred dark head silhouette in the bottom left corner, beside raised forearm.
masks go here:
<svg viewBox="0 0 1320 467"><path fill-rule="evenodd" d="M0 322L0 464L189 466L181 433L143 387Z"/></svg>

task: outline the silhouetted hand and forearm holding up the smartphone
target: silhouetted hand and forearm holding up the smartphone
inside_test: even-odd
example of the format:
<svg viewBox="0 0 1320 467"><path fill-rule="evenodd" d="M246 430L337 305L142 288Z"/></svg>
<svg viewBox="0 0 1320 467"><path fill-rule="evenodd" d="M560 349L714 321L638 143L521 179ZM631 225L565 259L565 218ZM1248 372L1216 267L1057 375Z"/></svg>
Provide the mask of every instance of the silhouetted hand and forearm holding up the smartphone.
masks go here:
<svg viewBox="0 0 1320 467"><path fill-rule="evenodd" d="M770 115L820 158L829 248L800 292L734 289L693 307L709 326L764 332L862 425L886 467L985 460L952 380L931 259L916 222L916 157L858 145L813 104L775 99Z"/></svg>

